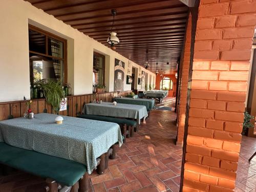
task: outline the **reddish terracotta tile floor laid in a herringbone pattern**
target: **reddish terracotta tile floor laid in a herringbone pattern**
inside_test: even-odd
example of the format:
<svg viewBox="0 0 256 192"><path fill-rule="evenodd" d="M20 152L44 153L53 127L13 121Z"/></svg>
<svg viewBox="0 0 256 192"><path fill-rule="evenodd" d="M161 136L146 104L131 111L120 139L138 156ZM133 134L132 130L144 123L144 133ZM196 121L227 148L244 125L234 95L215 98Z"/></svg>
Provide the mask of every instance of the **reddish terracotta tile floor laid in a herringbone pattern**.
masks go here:
<svg viewBox="0 0 256 192"><path fill-rule="evenodd" d="M165 99L163 105L174 106ZM182 148L175 145L176 114L154 110L135 137L127 139L103 175L93 173L90 191L179 191ZM256 191L256 139L243 137L235 191ZM23 172L0 177L0 192L44 191L43 179Z"/></svg>

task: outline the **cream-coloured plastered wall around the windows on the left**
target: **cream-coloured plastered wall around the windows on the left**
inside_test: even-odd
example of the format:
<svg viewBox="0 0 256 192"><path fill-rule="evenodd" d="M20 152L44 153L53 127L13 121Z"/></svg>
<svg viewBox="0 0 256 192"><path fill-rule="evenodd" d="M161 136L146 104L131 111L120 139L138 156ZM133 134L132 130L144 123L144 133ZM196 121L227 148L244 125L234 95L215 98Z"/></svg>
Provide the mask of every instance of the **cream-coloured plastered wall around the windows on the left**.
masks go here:
<svg viewBox="0 0 256 192"><path fill-rule="evenodd" d="M68 40L68 81L73 94L92 93L93 51L106 56L108 90L114 89L115 58L125 62L124 90L131 90L126 85L127 58L28 2L0 0L0 101L30 98L28 24Z"/></svg>

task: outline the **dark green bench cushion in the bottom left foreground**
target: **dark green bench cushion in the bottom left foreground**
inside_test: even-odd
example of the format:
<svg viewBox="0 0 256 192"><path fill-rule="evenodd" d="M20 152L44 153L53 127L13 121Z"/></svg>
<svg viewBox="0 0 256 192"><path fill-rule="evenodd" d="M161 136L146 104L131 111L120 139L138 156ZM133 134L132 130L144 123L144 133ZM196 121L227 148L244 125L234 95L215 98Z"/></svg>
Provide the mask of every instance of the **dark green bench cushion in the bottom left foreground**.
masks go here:
<svg viewBox="0 0 256 192"><path fill-rule="evenodd" d="M24 172L74 185L86 172L85 165L0 142L0 163Z"/></svg>

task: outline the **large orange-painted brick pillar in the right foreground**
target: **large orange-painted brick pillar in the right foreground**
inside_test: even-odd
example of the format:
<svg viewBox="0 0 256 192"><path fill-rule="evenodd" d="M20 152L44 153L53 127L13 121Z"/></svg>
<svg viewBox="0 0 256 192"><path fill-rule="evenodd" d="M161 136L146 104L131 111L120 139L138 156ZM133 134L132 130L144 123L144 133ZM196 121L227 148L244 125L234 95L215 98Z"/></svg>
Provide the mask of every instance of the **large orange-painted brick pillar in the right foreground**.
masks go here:
<svg viewBox="0 0 256 192"><path fill-rule="evenodd" d="M233 191L256 1L201 0L183 191Z"/></svg>

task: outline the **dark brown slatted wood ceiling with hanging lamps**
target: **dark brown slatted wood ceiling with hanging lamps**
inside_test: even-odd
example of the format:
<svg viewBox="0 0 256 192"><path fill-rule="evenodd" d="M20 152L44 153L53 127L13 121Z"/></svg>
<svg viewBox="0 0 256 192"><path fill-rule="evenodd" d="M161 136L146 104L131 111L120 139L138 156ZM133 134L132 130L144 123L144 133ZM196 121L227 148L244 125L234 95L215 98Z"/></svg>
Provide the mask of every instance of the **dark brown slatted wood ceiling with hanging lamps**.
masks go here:
<svg viewBox="0 0 256 192"><path fill-rule="evenodd" d="M178 0L26 0L73 28L110 47L111 9L117 10L113 31L120 44L116 51L149 70L176 71L188 7ZM146 54L146 52L148 52ZM169 65L167 65L169 62Z"/></svg>

